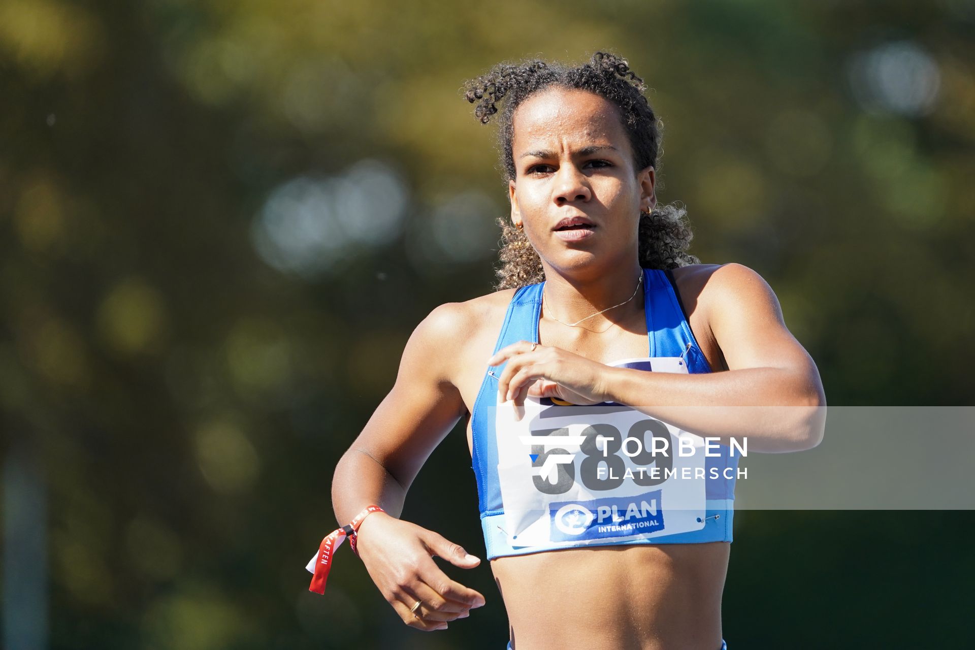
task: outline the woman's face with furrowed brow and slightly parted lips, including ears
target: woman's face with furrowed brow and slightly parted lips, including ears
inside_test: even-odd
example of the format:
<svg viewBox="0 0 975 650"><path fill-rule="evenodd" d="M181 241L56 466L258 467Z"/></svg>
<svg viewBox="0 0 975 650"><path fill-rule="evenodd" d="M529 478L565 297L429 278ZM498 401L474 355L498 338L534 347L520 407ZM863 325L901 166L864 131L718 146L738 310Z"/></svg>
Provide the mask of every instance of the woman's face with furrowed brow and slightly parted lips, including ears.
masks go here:
<svg viewBox="0 0 975 650"><path fill-rule="evenodd" d="M656 205L653 168L633 169L616 106L553 88L528 97L513 120L511 218L524 224L543 265L570 270L636 258L640 210ZM588 223L560 229L570 217Z"/></svg>

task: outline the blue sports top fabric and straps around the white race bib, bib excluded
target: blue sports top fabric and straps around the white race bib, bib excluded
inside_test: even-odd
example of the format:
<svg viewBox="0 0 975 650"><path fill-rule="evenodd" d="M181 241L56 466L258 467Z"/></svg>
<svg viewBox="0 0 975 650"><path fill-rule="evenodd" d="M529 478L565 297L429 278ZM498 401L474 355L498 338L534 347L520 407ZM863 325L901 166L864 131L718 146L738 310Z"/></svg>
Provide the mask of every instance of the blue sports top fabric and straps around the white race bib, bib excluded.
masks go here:
<svg viewBox="0 0 975 650"><path fill-rule="evenodd" d="M542 288L544 285L545 283L542 282L535 285L521 287L512 296L504 318L504 324L501 326L501 332L497 338L497 343L494 346L494 352L497 352L501 348L520 340L538 342L538 322L541 314ZM683 313L683 307L679 301L671 280L668 279L668 276L666 275L666 272L659 269L643 269L643 295L647 342L649 347L648 357L651 359L658 357L683 357L680 363L686 363L687 372L711 372L711 368L708 365L704 354L701 352L697 345L697 341L694 339L690 326L687 325L687 321ZM690 344L689 348L688 344ZM613 364L650 370L648 367L650 362L648 361L642 362L640 360L629 360ZM504 364L495 367L494 373L500 374L503 367ZM704 480L705 487L703 491L706 498L702 499L704 502L704 510L700 511L700 513L704 516L696 517L697 521L701 521L703 518L703 525L700 525L698 529L684 530L683 532L678 532L675 534L666 534L663 531L667 529L665 527L667 521L665 521L664 516L661 515L659 519L655 519L655 525L657 525L657 528L653 529L656 533L654 536L634 539L635 533L632 531L629 533L620 532L618 534L606 532L612 531L615 528L620 528L622 530L624 529L624 526L622 525L603 526L600 528L602 532L599 534L596 534L595 532L592 534L582 534L579 536L578 542L573 542L571 539L572 535L568 535L566 537L566 535L563 534L565 532L565 525L560 525L560 530L563 532L556 531L554 528L555 521L553 520L551 522L553 525L552 535L549 541L539 543L538 537L536 536L534 541L526 543L526 546L519 546L517 533L514 530L508 530L509 528L512 528L512 525L510 520L506 521L504 500L502 498L504 490L501 488L499 479L499 452L498 440L496 438L498 432L496 431L495 427L495 408L497 407L496 400L497 380L488 375L486 372L481 385L481 390L478 393L477 401L474 403L474 410L471 414L471 429L473 435L472 468L477 479L478 507L481 516L481 525L485 536L485 546L487 549L488 559L504 555L538 553L542 551L553 551L557 549L576 548L582 546L693 544L703 542L731 541L732 519L734 516L734 477L736 474L738 457L737 454L729 453L729 448L727 446L719 445L720 453L715 456L707 457L704 461L706 464L707 475L706 479ZM541 403L543 406L545 404L552 405L552 402L548 399L542 399ZM614 407L616 410L619 410L620 408L628 408L624 407L622 404L615 404L614 402L604 402L603 404L596 404L594 407L602 407L610 410ZM572 406L572 408L585 409L592 407ZM567 431L567 429L565 431ZM535 450L537 450L537 448ZM565 450L560 449L559 451ZM521 459L522 455L517 455L516 458ZM526 466L530 465L532 467L537 467L540 464L540 460L541 459L538 457L538 454L524 454L524 463ZM574 460L571 462L577 463L578 461ZM714 468L714 470L712 468ZM575 476L575 468L573 467L568 469L572 470L572 475ZM505 471L504 465L501 466L500 471ZM535 471L538 472L538 470ZM717 475L717 477L715 475ZM537 479L537 477L535 478ZM509 495L509 501L511 500L510 497L512 495L510 491L511 489L512 488L509 486L509 491L507 492ZM522 489L522 487L519 486L517 489ZM534 486L532 486L531 483L525 482L524 489L531 490L534 489ZM647 494L654 493L647 492ZM637 499L637 497L628 497L628 499ZM589 516L588 520L585 518L582 519L586 522L584 525L589 525L589 521L594 521L593 513L596 513L597 510L599 510L601 513L610 512L610 509L604 507L603 505L599 506L599 508L597 507L597 504L601 504L604 501L612 501L613 503L611 507L612 516L610 517L609 522L622 521L624 517L619 516L619 513L625 513L628 506L631 514L639 514L638 511L641 504L643 508L647 507L646 501L640 501L639 499L637 499L636 504L627 504L625 500L620 501L619 499L604 499L589 502L572 502L571 505L565 505L560 513L564 513L565 508L578 508L579 510L569 513L570 516L576 517L572 519L572 521L576 524L579 523L581 511ZM568 502L566 502L566 504L567 503ZM651 503L654 502L651 501ZM561 504L553 504L553 506L555 505ZM643 514L646 515L646 512L644 511ZM551 515L553 519L556 517L555 508L552 509ZM603 517L601 516L599 518L602 519ZM639 516L637 518L639 518ZM649 516L645 518L654 521L654 519ZM545 525L548 524L546 523ZM649 524L643 522L641 525ZM582 528L577 529L582 530ZM670 529L674 528L671 527ZM570 528L569 532L574 532L574 530L576 529ZM593 527L592 530L595 531L595 527ZM618 539L614 539L614 535L617 536ZM523 535L523 539L525 539L525 537L526 536Z"/></svg>

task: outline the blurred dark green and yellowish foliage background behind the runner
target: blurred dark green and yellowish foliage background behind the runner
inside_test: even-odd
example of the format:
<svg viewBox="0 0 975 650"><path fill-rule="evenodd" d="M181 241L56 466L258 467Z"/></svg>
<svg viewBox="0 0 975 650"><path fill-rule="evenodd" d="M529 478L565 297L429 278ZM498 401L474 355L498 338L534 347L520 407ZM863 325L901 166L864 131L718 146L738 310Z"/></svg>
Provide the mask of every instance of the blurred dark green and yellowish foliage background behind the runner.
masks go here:
<svg viewBox="0 0 975 650"><path fill-rule="evenodd" d="M5 647L504 647L487 561L436 633L347 549L324 597L303 568L409 332L491 290L460 87L500 60L629 58L661 201L831 405L972 403L973 34L972 0L0 1ZM460 426L404 517L484 556ZM732 650L970 642L971 513L735 524Z"/></svg>

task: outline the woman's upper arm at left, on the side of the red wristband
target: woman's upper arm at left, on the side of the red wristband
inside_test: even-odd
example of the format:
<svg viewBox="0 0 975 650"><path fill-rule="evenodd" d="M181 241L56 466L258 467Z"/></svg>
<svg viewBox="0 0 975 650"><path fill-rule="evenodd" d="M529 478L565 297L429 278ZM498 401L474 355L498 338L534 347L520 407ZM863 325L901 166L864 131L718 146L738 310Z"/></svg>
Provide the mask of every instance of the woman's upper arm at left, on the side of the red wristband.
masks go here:
<svg viewBox="0 0 975 650"><path fill-rule="evenodd" d="M466 412L448 363L466 316L460 303L440 305L409 336L396 383L379 403L352 448L367 452L403 485Z"/></svg>

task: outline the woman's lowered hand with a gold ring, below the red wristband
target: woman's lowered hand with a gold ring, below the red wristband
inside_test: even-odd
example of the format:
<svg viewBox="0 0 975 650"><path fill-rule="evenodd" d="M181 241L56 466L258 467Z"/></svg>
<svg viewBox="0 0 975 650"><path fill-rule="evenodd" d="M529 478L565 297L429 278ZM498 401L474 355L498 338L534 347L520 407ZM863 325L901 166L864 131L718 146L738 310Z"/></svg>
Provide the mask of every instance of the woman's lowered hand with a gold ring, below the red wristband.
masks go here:
<svg viewBox="0 0 975 650"><path fill-rule="evenodd" d="M472 569L481 563L457 544L415 523L372 513L359 525L356 551L370 578L403 622L422 631L447 630L447 622L470 616L485 597L451 580L434 557ZM416 616L410 608L421 600Z"/></svg>

